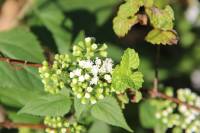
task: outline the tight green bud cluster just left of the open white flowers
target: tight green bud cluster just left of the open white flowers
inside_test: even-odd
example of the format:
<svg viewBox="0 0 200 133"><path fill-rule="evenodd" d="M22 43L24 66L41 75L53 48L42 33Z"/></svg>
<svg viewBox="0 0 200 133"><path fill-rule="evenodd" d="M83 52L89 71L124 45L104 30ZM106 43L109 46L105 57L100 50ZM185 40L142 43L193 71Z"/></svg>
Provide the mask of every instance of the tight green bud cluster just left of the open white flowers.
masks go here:
<svg viewBox="0 0 200 133"><path fill-rule="evenodd" d="M65 87L68 77L67 68L71 59L69 55L55 55L53 65L50 67L47 61L39 68L40 77L46 92L51 94L58 93Z"/></svg>

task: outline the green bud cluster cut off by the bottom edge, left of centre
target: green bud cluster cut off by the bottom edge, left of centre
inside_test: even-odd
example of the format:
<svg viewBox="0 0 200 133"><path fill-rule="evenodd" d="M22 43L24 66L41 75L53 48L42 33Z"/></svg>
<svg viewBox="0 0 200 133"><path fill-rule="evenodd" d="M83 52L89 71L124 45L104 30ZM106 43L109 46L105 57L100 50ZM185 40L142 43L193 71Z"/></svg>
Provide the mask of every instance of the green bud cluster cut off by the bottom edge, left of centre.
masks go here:
<svg viewBox="0 0 200 133"><path fill-rule="evenodd" d="M86 130L83 126L78 125L76 122L70 123L63 117L50 117L44 119L44 124L48 126L46 133L85 133Z"/></svg>

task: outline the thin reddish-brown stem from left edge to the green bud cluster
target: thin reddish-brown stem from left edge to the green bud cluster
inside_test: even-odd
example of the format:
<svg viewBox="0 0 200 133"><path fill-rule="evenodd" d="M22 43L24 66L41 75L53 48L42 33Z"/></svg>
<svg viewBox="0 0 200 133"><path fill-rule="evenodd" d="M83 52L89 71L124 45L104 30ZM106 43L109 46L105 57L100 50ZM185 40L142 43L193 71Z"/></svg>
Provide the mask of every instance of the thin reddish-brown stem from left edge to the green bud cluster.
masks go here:
<svg viewBox="0 0 200 133"><path fill-rule="evenodd" d="M39 68L39 67L42 66L42 64L39 64L39 63L17 60L17 59L11 59L11 58L7 58L7 57L0 57L0 61L7 62L9 64L14 64L14 65L20 64L20 65L31 66L31 67L36 67L36 68Z"/></svg>

